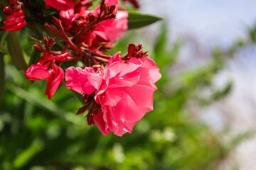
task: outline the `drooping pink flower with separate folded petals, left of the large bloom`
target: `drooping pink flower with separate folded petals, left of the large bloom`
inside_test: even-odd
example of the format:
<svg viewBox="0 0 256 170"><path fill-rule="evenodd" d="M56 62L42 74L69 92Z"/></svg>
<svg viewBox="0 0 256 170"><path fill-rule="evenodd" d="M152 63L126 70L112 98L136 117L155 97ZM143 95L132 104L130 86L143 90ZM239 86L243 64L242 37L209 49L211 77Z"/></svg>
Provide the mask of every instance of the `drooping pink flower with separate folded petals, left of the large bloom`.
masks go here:
<svg viewBox="0 0 256 170"><path fill-rule="evenodd" d="M63 55L50 55L45 52L42 57L38 59L37 64L32 64L25 72L28 80L42 80L48 79L45 94L48 98L52 98L55 91L62 84L64 72L61 67L55 64L55 60L63 62L69 56L68 52Z"/></svg>

